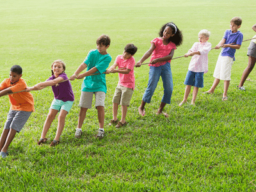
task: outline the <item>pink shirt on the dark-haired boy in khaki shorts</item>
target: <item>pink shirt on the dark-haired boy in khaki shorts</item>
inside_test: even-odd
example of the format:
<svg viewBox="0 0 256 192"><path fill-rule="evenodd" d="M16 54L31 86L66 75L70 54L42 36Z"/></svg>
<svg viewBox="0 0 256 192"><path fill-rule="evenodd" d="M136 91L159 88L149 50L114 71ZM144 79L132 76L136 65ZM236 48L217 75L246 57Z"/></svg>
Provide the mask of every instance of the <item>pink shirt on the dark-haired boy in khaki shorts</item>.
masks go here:
<svg viewBox="0 0 256 192"><path fill-rule="evenodd" d="M134 77L134 65L135 65L135 59L133 57L129 58L128 60L124 60L124 57L122 54L118 55L116 57L115 63L118 64L118 68L129 68L131 71L129 74L120 74L118 84L120 86L125 86L127 88L131 88L134 90L135 87L135 77Z"/></svg>

